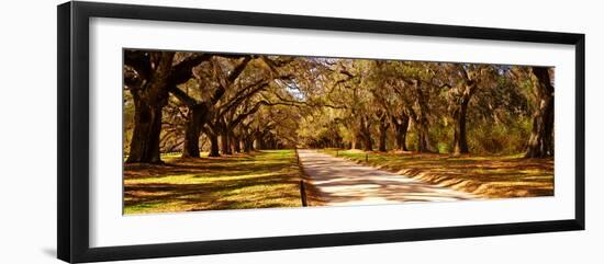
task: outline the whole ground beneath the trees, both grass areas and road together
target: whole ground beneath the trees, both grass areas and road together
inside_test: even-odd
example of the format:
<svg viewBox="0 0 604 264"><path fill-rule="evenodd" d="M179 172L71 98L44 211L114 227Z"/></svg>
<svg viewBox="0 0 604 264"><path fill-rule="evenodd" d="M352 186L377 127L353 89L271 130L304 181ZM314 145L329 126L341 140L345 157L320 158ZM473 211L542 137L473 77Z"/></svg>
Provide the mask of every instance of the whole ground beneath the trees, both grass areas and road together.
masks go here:
<svg viewBox="0 0 604 264"><path fill-rule="evenodd" d="M553 195L552 159L321 152L299 151L304 176L293 150L126 164L124 214L300 207L302 177L310 206Z"/></svg>

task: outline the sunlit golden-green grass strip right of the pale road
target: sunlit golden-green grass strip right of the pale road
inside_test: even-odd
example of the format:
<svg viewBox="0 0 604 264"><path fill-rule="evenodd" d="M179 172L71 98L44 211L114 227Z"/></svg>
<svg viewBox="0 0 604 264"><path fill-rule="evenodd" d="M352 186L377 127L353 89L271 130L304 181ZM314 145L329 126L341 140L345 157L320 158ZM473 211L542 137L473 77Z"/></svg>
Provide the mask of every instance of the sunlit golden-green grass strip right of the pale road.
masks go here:
<svg viewBox="0 0 604 264"><path fill-rule="evenodd" d="M336 156L335 149L322 150ZM337 156L489 198L553 195L553 159L338 150Z"/></svg>

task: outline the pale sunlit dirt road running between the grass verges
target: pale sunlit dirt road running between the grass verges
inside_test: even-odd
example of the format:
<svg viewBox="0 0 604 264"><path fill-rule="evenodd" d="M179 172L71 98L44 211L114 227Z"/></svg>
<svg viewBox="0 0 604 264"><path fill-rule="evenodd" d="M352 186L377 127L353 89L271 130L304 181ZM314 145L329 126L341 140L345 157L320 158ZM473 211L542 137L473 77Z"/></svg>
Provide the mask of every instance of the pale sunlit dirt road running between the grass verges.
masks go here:
<svg viewBox="0 0 604 264"><path fill-rule="evenodd" d="M343 158L299 150L304 174L323 205L399 204L478 198L395 173L359 165Z"/></svg>

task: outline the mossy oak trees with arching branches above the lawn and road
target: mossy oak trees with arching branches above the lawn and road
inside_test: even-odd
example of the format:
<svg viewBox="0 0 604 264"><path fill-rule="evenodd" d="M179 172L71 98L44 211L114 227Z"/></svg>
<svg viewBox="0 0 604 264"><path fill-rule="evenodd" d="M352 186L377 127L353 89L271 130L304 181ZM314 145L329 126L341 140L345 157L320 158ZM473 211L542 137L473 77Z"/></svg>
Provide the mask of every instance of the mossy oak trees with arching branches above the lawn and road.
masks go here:
<svg viewBox="0 0 604 264"><path fill-rule="evenodd" d="M125 49L126 162L279 148L553 156L553 68Z"/></svg>

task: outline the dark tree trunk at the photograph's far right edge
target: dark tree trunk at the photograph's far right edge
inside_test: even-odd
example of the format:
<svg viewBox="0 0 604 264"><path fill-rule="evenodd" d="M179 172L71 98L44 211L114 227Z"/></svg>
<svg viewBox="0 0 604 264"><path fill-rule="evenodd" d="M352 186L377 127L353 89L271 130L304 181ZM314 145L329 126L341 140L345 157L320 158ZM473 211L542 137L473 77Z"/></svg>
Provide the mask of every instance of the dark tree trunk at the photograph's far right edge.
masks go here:
<svg viewBox="0 0 604 264"><path fill-rule="evenodd" d="M525 158L553 157L553 85L549 69L533 67L534 96L538 108L533 115L533 129Z"/></svg>

